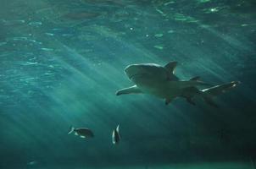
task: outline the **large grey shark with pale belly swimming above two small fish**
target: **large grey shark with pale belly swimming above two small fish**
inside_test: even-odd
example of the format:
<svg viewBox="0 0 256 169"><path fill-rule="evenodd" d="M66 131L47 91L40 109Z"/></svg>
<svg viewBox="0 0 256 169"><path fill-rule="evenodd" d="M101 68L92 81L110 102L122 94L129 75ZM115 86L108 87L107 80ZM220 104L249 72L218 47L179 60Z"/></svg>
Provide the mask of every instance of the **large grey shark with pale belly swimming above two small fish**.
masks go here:
<svg viewBox="0 0 256 169"><path fill-rule="evenodd" d="M210 86L195 76L188 80L181 80L175 75L177 62L170 62L164 66L156 63L131 64L125 68L126 76L134 83L116 92L116 95L149 94L164 99L165 105L169 105L175 98L185 98L192 105L194 97L200 96L210 106L218 107L213 98L235 88L240 82L232 81L223 85Z"/></svg>

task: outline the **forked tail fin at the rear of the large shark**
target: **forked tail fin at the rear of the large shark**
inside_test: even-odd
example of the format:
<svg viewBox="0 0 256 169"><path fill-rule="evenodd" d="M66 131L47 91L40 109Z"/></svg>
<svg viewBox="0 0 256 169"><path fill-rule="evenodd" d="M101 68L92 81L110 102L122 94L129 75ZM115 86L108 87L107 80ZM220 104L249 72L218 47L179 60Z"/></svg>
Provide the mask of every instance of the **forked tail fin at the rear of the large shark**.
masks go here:
<svg viewBox="0 0 256 169"><path fill-rule="evenodd" d="M228 90L235 88L240 82L232 81L231 83L225 85L215 85L214 87L202 90L203 91L203 100L208 103L210 106L219 107L213 100L217 95L225 93Z"/></svg>

